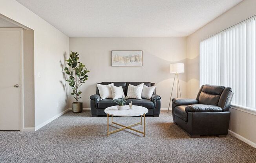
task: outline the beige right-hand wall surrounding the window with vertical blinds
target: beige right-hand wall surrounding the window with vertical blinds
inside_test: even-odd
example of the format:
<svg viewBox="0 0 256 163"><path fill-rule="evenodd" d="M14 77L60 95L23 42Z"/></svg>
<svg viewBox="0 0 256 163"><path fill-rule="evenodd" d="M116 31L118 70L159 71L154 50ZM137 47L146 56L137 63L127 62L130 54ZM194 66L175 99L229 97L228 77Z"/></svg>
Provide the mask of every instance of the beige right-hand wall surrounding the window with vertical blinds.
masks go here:
<svg viewBox="0 0 256 163"><path fill-rule="evenodd" d="M187 95L195 98L199 89L199 42L223 29L256 15L256 1L244 0L187 38ZM231 110L229 129L256 143L255 115Z"/></svg>

